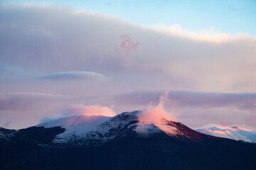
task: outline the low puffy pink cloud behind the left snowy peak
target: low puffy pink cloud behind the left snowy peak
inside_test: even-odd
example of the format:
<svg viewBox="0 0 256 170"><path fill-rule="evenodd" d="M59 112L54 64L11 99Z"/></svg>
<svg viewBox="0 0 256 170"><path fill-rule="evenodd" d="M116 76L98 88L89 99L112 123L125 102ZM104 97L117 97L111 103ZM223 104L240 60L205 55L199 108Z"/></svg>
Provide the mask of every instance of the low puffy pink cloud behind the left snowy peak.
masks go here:
<svg viewBox="0 0 256 170"><path fill-rule="evenodd" d="M100 105L92 105L92 106L85 106L83 104L73 105L69 108L66 108L63 111L63 115L65 116L72 116L72 115L105 115L105 116L114 116L116 115L112 108L107 108L106 106Z"/></svg>

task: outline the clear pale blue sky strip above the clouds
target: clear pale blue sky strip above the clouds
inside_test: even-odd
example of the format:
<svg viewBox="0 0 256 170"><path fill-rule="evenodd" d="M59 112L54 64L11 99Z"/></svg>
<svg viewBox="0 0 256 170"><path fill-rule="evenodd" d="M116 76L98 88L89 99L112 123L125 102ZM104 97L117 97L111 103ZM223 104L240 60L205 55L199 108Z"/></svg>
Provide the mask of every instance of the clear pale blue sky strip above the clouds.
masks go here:
<svg viewBox="0 0 256 170"><path fill-rule="evenodd" d="M218 33L256 35L256 1L24 1L2 0L2 3L36 3L66 6L76 10L93 11L123 18L131 23L152 26L178 24L190 31L214 28Z"/></svg>

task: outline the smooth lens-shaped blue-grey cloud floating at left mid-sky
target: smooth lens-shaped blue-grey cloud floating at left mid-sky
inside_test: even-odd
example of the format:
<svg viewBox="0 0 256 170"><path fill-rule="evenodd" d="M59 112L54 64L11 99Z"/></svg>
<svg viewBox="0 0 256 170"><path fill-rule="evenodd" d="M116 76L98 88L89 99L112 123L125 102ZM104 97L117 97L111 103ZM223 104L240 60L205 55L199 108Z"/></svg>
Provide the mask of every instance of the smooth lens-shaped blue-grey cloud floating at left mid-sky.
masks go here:
<svg viewBox="0 0 256 170"><path fill-rule="evenodd" d="M102 74L96 72L56 72L48 74L37 79L50 80L50 81L63 81L63 80L105 80L108 79Z"/></svg>

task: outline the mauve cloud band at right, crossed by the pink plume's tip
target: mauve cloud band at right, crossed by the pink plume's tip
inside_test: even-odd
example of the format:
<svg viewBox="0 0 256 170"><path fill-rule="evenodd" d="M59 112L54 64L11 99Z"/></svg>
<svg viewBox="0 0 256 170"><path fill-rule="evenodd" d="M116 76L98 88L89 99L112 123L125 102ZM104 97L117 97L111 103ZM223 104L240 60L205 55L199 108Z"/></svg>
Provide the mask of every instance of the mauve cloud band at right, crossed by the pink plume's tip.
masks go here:
<svg viewBox="0 0 256 170"><path fill-rule="evenodd" d="M115 97L119 104L146 105L159 102L159 96L163 91L133 91L127 94L120 94ZM188 90L171 90L169 92L167 107L200 107L200 108L221 108L236 107L240 110L251 111L256 114L256 94L244 93L217 93Z"/></svg>

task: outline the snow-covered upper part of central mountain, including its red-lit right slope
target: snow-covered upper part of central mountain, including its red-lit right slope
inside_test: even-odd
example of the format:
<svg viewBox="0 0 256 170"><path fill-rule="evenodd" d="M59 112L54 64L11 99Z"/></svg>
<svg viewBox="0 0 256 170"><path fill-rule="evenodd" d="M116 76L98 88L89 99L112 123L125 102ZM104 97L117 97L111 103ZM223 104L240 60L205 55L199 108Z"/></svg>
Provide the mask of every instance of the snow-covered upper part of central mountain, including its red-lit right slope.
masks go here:
<svg viewBox="0 0 256 170"><path fill-rule="evenodd" d="M143 111L124 112L114 117L76 115L69 118L61 118L37 127L65 128L65 132L55 137L55 144L72 145L102 145L111 140L129 135L150 137L162 133L172 137L200 140L203 135L182 123L176 123L162 118L157 121L139 120Z"/></svg>

